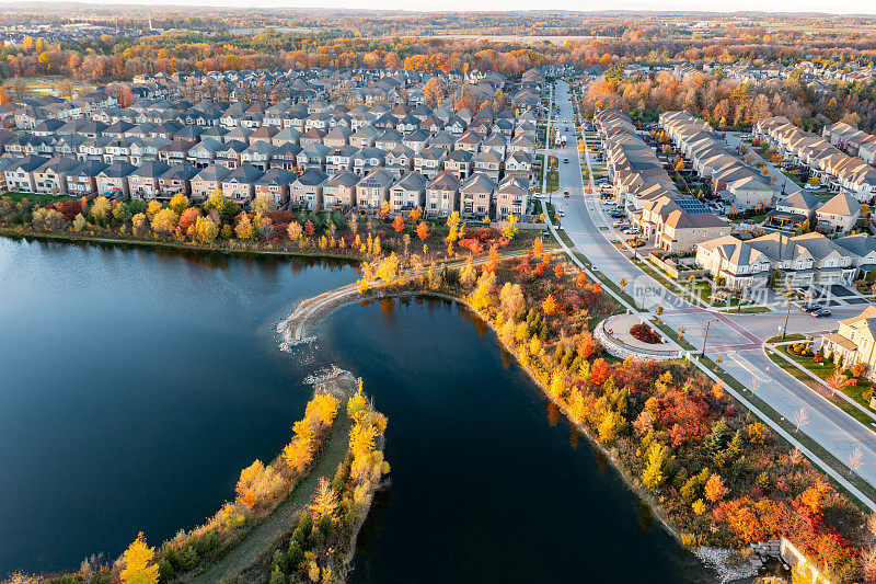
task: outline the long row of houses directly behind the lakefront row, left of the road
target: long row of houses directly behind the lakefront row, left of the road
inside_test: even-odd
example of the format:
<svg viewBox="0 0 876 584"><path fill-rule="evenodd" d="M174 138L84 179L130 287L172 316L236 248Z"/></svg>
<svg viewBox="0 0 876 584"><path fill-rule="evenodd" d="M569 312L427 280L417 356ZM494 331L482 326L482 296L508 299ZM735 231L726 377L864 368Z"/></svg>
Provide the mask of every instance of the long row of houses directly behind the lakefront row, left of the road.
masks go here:
<svg viewBox="0 0 876 584"><path fill-rule="evenodd" d="M454 138L447 133L431 136L424 130L407 135L394 129L379 133L372 126L365 126L353 134L333 130L322 141L316 141L295 135L288 128L276 130L263 126L245 136L237 133L237 138L229 138L229 134L201 135L194 141L177 135L140 137L145 131L142 126L119 129L122 137L116 136L116 129L108 135L103 130L97 138L66 133L90 133L94 129L90 124L60 129L65 131L48 136L0 131L0 152L18 157L65 156L108 164L128 162L139 165L161 160L169 164L188 162L197 168L219 164L234 169L252 164L267 170L284 165L287 170L315 168L330 174L342 170L364 174L372 168L384 167L396 175L415 170L434 176L447 170L460 178L484 172L498 180L503 173L531 179L535 150L533 139L523 133L510 140L502 134L484 139L474 133ZM333 134L337 135L336 140L332 138Z"/></svg>

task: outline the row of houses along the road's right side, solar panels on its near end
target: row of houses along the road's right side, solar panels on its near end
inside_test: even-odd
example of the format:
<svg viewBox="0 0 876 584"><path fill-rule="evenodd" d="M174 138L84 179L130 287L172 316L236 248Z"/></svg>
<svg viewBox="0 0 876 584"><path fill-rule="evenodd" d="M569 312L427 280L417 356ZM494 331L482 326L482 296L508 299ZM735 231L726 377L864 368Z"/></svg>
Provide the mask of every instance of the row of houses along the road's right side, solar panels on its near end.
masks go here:
<svg viewBox="0 0 876 584"><path fill-rule="evenodd" d="M614 196L646 241L669 252L691 251L700 242L730 233L727 221L682 196L626 114L603 110L593 116L593 124Z"/></svg>

